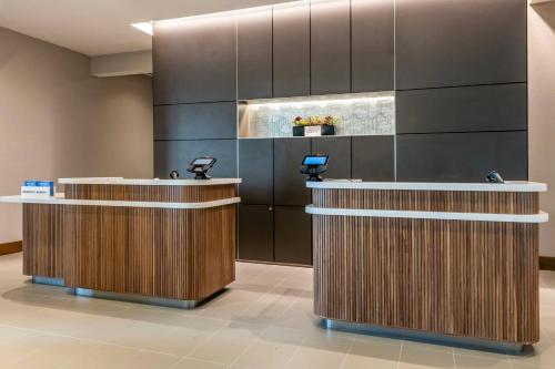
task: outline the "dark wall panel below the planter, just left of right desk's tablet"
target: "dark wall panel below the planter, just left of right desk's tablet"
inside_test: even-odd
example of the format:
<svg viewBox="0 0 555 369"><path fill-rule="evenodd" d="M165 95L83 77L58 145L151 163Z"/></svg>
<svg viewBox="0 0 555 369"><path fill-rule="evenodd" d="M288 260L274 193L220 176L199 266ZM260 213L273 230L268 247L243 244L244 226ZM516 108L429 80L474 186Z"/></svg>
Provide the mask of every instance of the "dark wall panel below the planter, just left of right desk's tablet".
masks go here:
<svg viewBox="0 0 555 369"><path fill-rule="evenodd" d="M311 153L310 139L274 140L274 204L307 205L311 195L305 176L299 173L304 155Z"/></svg>

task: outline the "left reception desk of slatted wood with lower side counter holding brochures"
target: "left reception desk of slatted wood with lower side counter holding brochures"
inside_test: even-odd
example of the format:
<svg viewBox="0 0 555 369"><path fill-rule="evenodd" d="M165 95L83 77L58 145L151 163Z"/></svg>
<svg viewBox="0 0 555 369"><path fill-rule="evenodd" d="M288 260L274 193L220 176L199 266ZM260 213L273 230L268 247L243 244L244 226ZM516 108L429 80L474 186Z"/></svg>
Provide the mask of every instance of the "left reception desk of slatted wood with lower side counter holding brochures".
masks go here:
<svg viewBox="0 0 555 369"><path fill-rule="evenodd" d="M240 180L64 178L23 204L23 274L98 295L192 307L234 280Z"/></svg>

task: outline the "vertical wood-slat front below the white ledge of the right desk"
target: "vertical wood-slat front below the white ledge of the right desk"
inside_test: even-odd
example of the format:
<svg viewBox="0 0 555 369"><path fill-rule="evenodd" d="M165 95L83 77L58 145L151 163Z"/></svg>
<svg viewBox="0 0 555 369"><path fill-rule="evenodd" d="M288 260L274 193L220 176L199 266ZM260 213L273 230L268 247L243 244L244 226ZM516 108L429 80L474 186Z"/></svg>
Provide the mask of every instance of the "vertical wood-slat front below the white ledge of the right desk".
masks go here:
<svg viewBox="0 0 555 369"><path fill-rule="evenodd" d="M538 340L537 225L313 216L315 314Z"/></svg>

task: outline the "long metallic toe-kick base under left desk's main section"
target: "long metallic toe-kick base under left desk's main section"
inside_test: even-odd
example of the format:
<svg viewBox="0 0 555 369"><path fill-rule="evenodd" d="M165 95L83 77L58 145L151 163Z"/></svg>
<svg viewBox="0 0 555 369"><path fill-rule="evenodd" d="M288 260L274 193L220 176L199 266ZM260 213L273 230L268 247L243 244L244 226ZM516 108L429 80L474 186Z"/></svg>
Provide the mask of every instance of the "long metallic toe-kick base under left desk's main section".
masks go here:
<svg viewBox="0 0 555 369"><path fill-rule="evenodd" d="M108 300L165 306L180 309L193 309L200 304L200 300L176 300L172 298L143 296L134 294L119 294L119 293L110 293L110 291L89 289L89 288L73 288L73 294L75 294L77 296L98 297Z"/></svg>

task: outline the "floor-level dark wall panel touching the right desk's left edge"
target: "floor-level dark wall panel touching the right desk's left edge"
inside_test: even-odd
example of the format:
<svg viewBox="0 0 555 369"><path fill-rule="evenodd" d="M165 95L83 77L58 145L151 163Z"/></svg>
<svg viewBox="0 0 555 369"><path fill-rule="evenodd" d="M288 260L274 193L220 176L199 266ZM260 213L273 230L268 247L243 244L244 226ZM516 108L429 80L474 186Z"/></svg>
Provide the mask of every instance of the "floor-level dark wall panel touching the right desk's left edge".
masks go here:
<svg viewBox="0 0 555 369"><path fill-rule="evenodd" d="M275 262L312 264L312 222L303 206L276 206Z"/></svg>

